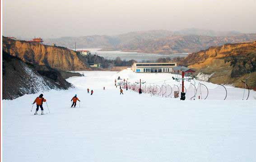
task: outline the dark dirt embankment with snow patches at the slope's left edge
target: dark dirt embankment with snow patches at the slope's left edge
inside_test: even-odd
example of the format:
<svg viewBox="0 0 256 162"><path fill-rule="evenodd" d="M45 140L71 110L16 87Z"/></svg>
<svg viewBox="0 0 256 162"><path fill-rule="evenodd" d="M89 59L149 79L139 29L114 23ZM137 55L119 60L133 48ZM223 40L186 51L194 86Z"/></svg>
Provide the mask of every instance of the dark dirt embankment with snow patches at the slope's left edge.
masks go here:
<svg viewBox="0 0 256 162"><path fill-rule="evenodd" d="M3 99L72 87L58 70L23 62L3 51Z"/></svg>

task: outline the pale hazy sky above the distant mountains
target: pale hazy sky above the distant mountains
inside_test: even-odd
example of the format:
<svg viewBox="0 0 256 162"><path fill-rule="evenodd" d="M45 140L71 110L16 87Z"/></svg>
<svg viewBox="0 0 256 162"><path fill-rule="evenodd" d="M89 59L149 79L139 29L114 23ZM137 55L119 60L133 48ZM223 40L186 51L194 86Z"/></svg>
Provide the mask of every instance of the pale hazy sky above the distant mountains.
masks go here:
<svg viewBox="0 0 256 162"><path fill-rule="evenodd" d="M116 35L183 28L256 33L256 0L3 0L3 35Z"/></svg>

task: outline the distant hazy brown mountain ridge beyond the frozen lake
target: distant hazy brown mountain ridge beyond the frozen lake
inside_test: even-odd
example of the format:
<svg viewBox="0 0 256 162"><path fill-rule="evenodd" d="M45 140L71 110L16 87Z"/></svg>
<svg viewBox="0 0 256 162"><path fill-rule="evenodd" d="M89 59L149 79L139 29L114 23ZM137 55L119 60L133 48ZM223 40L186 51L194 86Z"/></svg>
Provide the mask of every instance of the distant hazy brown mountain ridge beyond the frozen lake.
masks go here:
<svg viewBox="0 0 256 162"><path fill-rule="evenodd" d="M88 35L81 37L61 37L46 39L46 44L74 48L102 48L102 51L121 50L140 53L193 53L227 43L250 42L256 34L237 31L212 31L203 29L183 29L180 31L152 30L135 31L121 35Z"/></svg>

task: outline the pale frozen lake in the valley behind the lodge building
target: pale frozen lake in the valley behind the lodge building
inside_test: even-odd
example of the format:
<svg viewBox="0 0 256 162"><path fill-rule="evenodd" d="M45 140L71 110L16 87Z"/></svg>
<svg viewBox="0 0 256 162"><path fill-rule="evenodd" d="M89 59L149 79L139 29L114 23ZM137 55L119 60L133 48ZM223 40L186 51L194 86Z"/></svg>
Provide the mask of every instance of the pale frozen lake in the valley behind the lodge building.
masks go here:
<svg viewBox="0 0 256 162"><path fill-rule="evenodd" d="M186 57L188 53L175 53L175 54L155 54L155 53L136 53L136 52L122 52L122 51L99 51L101 48L84 48L83 50L88 50L92 54L96 54L98 56L104 57L106 59L116 59L116 57L120 57L121 60L131 60L134 59L136 61L144 61L150 60L155 61L160 57ZM82 50L82 49L76 49Z"/></svg>

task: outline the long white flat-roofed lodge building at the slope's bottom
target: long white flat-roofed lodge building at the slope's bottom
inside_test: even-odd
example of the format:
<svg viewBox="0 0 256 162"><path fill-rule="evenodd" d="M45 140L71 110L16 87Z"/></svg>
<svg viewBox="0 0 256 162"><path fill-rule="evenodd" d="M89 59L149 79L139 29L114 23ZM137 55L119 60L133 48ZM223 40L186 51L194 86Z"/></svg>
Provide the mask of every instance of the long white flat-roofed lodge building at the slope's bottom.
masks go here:
<svg viewBox="0 0 256 162"><path fill-rule="evenodd" d="M171 73L177 63L134 63L131 69L136 73Z"/></svg>

